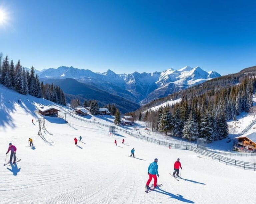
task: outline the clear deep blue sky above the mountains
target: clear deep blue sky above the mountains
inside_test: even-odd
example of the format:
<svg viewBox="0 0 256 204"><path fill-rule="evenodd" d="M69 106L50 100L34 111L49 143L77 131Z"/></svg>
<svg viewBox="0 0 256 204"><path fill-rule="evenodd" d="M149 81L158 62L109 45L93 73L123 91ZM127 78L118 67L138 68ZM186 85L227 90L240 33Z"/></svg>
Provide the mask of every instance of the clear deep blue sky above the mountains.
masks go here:
<svg viewBox="0 0 256 204"><path fill-rule="evenodd" d="M0 51L36 69L116 73L256 65L256 1L0 1Z"/></svg>

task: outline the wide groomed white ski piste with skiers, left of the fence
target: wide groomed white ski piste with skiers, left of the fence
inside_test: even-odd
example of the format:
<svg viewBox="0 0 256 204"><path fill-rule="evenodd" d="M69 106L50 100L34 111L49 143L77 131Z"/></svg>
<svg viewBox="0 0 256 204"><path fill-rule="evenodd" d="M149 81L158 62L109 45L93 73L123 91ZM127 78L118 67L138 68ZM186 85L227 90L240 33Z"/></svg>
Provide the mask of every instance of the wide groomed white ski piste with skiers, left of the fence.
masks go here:
<svg viewBox="0 0 256 204"><path fill-rule="evenodd" d="M40 137L36 119L43 116L36 111L41 106L60 109L50 101L0 85L1 204L255 203L255 171L198 157L191 151L168 149L122 132L109 136L108 127L68 115L68 124L61 117L44 117L47 131L42 129ZM59 116L64 116L63 110ZM75 146L74 138L79 136L83 140ZM34 148L28 145L29 138ZM10 142L21 161L6 168L3 164ZM129 156L132 148L136 158ZM154 158L158 158L159 183L163 186L145 193L148 166ZM177 158L186 181L177 181L169 174Z"/></svg>

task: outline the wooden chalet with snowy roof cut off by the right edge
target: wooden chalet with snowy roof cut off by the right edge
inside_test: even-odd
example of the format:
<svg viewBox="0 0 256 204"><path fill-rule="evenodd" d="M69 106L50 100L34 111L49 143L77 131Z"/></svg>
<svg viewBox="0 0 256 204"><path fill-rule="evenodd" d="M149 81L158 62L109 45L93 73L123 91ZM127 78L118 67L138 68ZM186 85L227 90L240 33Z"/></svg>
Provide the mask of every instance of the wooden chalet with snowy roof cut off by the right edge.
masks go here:
<svg viewBox="0 0 256 204"><path fill-rule="evenodd" d="M256 133L234 138L235 147L243 152L256 152Z"/></svg>

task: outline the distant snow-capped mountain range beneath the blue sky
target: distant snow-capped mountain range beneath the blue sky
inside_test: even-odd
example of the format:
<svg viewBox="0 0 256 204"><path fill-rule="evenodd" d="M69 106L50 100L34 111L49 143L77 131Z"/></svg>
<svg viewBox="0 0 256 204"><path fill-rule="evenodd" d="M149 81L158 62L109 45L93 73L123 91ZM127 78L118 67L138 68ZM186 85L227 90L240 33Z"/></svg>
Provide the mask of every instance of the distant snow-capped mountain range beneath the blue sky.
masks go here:
<svg viewBox="0 0 256 204"><path fill-rule="evenodd" d="M99 90L140 104L146 104L154 99L221 76L216 71L206 72L199 66L195 68L186 66L178 70L170 68L162 72L152 73L133 72L131 74L116 74L110 69L99 73L89 69L60 66L57 69L36 70L36 73L41 80L73 78L79 82L95 86Z"/></svg>

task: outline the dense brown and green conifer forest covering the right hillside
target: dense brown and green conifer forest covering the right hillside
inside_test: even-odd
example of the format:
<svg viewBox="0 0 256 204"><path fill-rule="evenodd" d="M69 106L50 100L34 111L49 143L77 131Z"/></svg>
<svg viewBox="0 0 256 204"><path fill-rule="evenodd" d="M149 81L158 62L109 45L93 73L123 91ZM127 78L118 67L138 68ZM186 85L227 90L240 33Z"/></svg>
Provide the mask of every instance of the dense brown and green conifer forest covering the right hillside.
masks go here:
<svg viewBox="0 0 256 204"><path fill-rule="evenodd" d="M181 98L181 102L150 111L145 107L131 113L140 121L147 121L152 130L171 133L188 140L206 138L208 142L228 136L228 119L236 119L242 111L252 107L256 88L256 67L204 82L188 90L163 99ZM233 84L233 85L231 85ZM235 85L234 85L235 84ZM153 105L155 106L157 103ZM144 111L143 111L144 110Z"/></svg>

